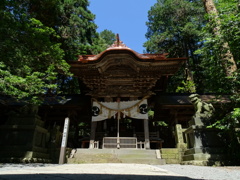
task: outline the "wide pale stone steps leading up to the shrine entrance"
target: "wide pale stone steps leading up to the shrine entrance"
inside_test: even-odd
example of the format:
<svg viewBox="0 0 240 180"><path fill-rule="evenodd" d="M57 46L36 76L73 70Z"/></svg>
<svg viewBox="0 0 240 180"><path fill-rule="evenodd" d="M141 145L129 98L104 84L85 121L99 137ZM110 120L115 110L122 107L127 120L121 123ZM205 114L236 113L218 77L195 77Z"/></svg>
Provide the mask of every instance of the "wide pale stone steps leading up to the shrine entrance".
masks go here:
<svg viewBox="0 0 240 180"><path fill-rule="evenodd" d="M165 160L161 159L159 154L159 150L143 149L77 149L73 158L67 159L67 163L165 164Z"/></svg>

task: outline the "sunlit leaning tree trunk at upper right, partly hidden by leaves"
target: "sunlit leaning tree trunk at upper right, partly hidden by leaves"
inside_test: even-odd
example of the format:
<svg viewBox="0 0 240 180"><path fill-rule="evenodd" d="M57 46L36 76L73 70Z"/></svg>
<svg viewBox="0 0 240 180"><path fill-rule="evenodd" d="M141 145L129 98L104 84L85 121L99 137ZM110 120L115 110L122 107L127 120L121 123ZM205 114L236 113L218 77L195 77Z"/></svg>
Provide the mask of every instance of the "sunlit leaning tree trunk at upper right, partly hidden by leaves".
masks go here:
<svg viewBox="0 0 240 180"><path fill-rule="evenodd" d="M213 28L213 33L215 36L219 36L221 34L220 32L220 19L218 18L218 11L215 7L215 4L213 0L203 0L203 4L206 10L206 13L212 14L212 21L216 21L216 27ZM225 68L225 72L227 76L231 76L236 70L237 70L237 65L234 60L233 54L230 51L230 47L228 45L228 42L224 42L222 46L222 50L224 53L221 54L221 63Z"/></svg>

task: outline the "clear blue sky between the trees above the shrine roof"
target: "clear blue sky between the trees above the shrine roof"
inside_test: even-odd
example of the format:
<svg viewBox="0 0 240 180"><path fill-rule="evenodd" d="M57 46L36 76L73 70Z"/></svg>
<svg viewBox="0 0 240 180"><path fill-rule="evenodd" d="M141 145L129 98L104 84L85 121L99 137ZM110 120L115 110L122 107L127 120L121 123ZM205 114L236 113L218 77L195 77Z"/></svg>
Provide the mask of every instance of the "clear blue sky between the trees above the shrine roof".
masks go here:
<svg viewBox="0 0 240 180"><path fill-rule="evenodd" d="M89 0L96 15L98 32L108 29L118 33L129 48L143 53L146 41L148 11L157 0Z"/></svg>

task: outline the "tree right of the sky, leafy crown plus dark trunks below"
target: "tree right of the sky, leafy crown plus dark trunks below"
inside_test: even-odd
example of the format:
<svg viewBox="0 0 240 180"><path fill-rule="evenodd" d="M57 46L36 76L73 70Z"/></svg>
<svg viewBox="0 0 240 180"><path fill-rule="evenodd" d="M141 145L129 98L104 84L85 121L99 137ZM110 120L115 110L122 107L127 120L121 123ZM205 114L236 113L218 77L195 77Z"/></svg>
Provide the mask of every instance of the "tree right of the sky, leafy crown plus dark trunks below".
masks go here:
<svg viewBox="0 0 240 180"><path fill-rule="evenodd" d="M194 51L202 46L200 34L206 23L201 1L158 0L148 12L147 53L169 53L169 57L188 57L188 68L193 72L198 91L201 85L202 69L199 56ZM175 92L185 79L181 69L168 85L168 92ZM169 81L169 82L170 82Z"/></svg>

